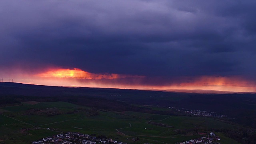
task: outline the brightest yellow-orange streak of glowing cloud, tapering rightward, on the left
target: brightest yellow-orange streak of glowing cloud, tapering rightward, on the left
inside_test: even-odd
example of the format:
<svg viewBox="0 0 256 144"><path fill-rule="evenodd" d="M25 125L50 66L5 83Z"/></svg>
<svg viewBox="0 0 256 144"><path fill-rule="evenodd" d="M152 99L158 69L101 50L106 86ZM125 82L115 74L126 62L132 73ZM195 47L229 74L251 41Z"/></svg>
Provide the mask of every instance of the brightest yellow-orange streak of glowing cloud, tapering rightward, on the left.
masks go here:
<svg viewBox="0 0 256 144"><path fill-rule="evenodd" d="M85 72L78 68L70 69L54 69L47 72L37 74L40 77L53 77L53 78L82 78L82 79L117 79L117 78L143 78L144 76L134 76L125 74L93 74Z"/></svg>

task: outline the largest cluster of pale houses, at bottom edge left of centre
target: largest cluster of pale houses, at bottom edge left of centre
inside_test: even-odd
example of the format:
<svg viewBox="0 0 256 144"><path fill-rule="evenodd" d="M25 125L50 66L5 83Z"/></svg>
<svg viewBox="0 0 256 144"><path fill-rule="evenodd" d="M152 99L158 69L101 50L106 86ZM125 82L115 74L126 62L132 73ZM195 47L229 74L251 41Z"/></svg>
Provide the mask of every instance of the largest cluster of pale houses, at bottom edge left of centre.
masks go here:
<svg viewBox="0 0 256 144"><path fill-rule="evenodd" d="M96 138L79 132L66 132L32 142L32 144L127 144L111 138Z"/></svg>

